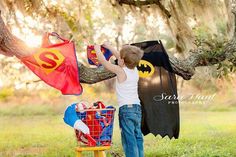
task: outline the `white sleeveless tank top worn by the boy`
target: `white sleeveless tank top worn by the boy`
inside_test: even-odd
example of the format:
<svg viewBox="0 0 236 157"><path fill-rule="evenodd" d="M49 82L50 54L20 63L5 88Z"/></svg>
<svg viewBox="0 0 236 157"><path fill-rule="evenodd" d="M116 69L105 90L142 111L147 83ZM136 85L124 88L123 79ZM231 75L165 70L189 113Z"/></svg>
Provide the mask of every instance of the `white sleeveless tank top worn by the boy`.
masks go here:
<svg viewBox="0 0 236 157"><path fill-rule="evenodd" d="M140 104L138 97L138 70L123 67L126 74L126 80L119 83L116 78L116 95L119 107L128 104Z"/></svg>

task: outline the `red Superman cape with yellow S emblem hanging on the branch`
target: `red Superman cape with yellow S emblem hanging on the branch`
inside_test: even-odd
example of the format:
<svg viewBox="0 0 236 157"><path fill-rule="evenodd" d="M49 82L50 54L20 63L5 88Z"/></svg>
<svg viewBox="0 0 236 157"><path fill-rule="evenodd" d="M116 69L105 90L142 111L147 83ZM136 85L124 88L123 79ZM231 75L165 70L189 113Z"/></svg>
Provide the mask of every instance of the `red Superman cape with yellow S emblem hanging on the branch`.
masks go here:
<svg viewBox="0 0 236 157"><path fill-rule="evenodd" d="M62 42L51 44L49 36L55 36ZM42 47L34 54L22 57L21 61L41 80L60 90L62 94L82 93L74 43L58 34L46 33Z"/></svg>

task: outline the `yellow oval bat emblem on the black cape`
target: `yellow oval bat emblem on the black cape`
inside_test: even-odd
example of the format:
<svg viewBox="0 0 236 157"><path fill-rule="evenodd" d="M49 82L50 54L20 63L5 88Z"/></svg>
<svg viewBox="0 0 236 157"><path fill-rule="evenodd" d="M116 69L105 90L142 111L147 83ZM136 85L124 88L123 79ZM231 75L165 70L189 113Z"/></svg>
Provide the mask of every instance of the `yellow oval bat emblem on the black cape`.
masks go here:
<svg viewBox="0 0 236 157"><path fill-rule="evenodd" d="M137 69L139 76L142 78L152 76L155 70L153 65L146 60L140 60Z"/></svg>

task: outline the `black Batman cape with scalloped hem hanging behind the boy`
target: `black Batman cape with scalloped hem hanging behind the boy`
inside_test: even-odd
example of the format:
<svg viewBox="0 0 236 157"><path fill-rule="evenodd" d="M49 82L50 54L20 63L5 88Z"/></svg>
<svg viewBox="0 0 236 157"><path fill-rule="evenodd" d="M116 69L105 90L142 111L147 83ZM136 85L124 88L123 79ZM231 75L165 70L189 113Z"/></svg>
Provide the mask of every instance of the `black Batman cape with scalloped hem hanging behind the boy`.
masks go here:
<svg viewBox="0 0 236 157"><path fill-rule="evenodd" d="M144 50L138 65L138 92L142 104L144 135L179 137L179 102L176 77L161 41L131 44Z"/></svg>

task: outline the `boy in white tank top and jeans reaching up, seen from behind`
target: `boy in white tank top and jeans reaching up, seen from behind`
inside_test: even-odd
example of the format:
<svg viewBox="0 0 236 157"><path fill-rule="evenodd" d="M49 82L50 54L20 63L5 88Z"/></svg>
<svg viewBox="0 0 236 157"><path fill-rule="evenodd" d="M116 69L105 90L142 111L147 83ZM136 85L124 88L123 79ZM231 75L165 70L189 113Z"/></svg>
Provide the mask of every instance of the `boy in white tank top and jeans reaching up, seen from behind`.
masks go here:
<svg viewBox="0 0 236 157"><path fill-rule="evenodd" d="M141 105L138 97L138 65L143 51L135 46L125 45L118 53L108 42L103 46L118 59L118 65L107 61L101 47L95 45L98 61L116 74L116 94L119 104L119 125L122 146L126 157L143 157L143 135L141 131Z"/></svg>

